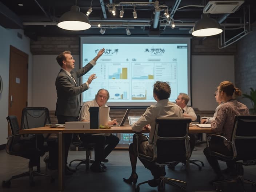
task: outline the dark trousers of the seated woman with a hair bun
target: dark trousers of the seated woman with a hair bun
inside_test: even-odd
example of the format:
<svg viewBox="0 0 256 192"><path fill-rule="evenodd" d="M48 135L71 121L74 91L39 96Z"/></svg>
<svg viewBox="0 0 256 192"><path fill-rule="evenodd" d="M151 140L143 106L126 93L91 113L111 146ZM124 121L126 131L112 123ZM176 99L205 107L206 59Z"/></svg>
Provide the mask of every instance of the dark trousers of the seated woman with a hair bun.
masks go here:
<svg viewBox="0 0 256 192"><path fill-rule="evenodd" d="M209 164L211 165L213 171L218 176L220 176L222 173L221 173L220 165L218 162L218 158L211 155L211 149L212 149L212 151L217 151L223 155L228 155L228 156L232 155L233 152L230 151L227 148L227 146L224 145L222 140L211 141L210 147L204 149L204 155L205 155L206 159L208 160ZM234 169L235 161L227 161L227 166L229 169Z"/></svg>

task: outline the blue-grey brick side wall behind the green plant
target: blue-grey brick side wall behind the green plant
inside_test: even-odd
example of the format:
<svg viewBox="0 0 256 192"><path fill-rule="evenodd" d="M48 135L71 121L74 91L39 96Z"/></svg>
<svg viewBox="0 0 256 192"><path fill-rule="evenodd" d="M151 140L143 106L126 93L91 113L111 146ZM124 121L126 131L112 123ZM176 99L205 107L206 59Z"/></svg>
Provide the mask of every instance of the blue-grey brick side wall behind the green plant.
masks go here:
<svg viewBox="0 0 256 192"><path fill-rule="evenodd" d="M237 43L235 57L235 84L243 93L250 93L250 87L256 89L256 23L252 32ZM249 99L240 99L249 108L252 108Z"/></svg>

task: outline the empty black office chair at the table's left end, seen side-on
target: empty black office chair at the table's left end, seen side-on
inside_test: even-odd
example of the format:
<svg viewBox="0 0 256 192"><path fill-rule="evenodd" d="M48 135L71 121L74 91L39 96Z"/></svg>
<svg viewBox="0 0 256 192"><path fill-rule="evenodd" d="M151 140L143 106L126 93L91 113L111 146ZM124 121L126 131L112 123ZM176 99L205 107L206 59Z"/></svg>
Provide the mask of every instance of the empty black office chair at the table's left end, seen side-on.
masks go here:
<svg viewBox="0 0 256 192"><path fill-rule="evenodd" d="M25 173L21 173L19 175L12 176L9 180L3 181L3 187L10 187L11 180L17 179L19 177L29 176L29 184L30 186L35 185L35 181L33 180L34 176L45 176L50 177L51 182L54 181L53 177L46 175L40 172L40 156L43 156L45 148L43 146L43 136L36 135L36 136L28 136L23 137L19 134L19 124L17 121L16 116L8 116L7 121L11 128L12 136L7 137L7 144L6 144L6 152L9 155L15 155L24 157L29 159L28 167L29 171ZM37 167L37 171L33 171L33 167Z"/></svg>

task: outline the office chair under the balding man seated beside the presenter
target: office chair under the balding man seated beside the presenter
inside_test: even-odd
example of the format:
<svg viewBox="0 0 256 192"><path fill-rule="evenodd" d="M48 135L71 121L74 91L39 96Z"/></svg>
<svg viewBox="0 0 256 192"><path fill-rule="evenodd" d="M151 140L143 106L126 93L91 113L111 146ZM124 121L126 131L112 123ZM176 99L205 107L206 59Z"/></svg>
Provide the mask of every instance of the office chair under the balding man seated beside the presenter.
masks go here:
<svg viewBox="0 0 256 192"><path fill-rule="evenodd" d="M85 153L85 159L74 159L69 162L69 166L71 166L71 163L73 161L80 161L80 163L76 165L76 169L78 169L77 167L79 167L79 165L85 164L86 171L88 171L89 164L94 162L94 160L91 159L91 156L92 156L91 151L93 151L95 144L94 143L83 143L83 141L81 141L78 134L73 134L72 143L73 143L73 145L76 146L76 151L78 151L79 148L83 148L86 151L86 153Z"/></svg>

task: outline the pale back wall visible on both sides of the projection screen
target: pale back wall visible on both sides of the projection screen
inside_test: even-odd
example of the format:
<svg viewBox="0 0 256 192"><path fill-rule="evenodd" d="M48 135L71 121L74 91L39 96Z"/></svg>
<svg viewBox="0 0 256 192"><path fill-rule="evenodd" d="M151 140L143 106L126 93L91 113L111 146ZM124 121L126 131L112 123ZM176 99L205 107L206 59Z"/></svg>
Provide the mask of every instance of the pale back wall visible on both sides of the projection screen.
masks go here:
<svg viewBox="0 0 256 192"><path fill-rule="evenodd" d="M77 69L80 65L79 55L73 57ZM55 58L56 55L33 56L32 105L47 107L50 111L55 110L55 79L60 70ZM224 80L234 82L234 57L192 56L191 68L193 107L214 111L217 103L213 93L217 85Z"/></svg>

